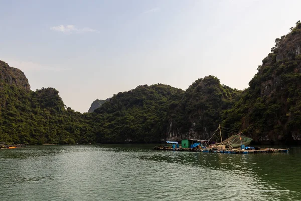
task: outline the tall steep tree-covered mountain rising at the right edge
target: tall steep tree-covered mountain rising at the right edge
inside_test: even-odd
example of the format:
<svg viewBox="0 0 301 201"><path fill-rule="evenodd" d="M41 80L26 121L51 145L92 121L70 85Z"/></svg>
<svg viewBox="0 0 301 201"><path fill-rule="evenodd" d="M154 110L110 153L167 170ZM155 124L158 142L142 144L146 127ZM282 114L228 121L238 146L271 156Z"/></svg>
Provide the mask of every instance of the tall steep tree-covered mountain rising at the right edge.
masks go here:
<svg viewBox="0 0 301 201"><path fill-rule="evenodd" d="M223 125L243 130L255 141L300 141L301 129L301 23L275 40L258 66L249 87Z"/></svg>

